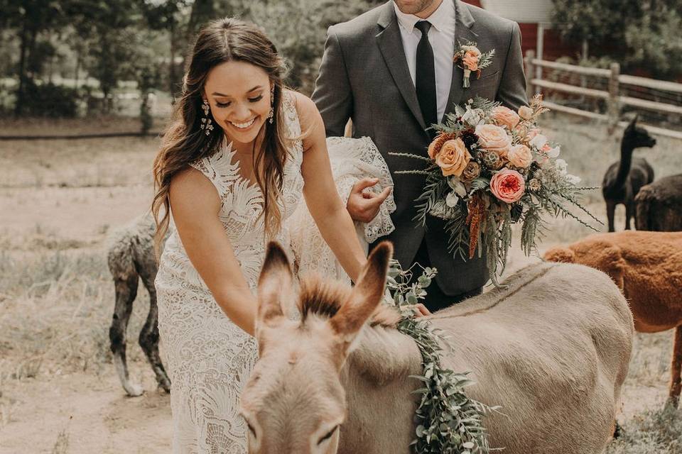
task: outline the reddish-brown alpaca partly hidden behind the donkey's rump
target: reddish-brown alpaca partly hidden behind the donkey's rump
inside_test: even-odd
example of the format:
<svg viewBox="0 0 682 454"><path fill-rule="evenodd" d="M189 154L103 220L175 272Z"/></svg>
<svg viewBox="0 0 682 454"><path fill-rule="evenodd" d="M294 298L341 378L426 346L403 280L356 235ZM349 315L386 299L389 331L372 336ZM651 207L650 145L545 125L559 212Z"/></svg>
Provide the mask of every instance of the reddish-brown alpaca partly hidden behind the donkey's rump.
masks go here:
<svg viewBox="0 0 682 454"><path fill-rule="evenodd" d="M609 275L628 299L640 333L676 328L669 403L677 406L682 390L682 232L601 233L550 249L544 258Z"/></svg>

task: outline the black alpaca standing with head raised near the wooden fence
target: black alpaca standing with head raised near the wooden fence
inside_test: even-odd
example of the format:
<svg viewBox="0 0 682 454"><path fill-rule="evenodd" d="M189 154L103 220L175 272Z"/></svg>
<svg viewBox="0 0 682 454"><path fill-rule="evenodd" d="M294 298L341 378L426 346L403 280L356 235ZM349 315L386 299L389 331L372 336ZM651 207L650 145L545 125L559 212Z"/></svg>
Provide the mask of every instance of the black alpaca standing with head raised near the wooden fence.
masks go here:
<svg viewBox="0 0 682 454"><path fill-rule="evenodd" d="M625 230L630 229L630 219L634 216L634 197L644 184L654 181L654 169L642 157L632 157L635 148L656 145L646 129L637 126L637 116L625 128L620 142L620 161L614 162L604 175L602 194L606 201L606 214L609 231L614 232L614 213L616 205L625 205Z"/></svg>

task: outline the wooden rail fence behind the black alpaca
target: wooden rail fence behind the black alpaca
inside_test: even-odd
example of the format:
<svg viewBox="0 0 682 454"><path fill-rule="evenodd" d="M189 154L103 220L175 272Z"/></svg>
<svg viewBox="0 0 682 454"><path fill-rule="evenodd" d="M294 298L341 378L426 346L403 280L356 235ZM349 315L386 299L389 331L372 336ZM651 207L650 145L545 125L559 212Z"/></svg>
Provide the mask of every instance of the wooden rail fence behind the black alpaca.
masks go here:
<svg viewBox="0 0 682 454"><path fill-rule="evenodd" d="M575 107L563 106L551 101L545 101L545 104L548 108L555 111L605 121L608 123L610 132L614 131L616 126L627 126L627 121L620 121L620 114L623 106L637 107L639 109L646 109L662 114L682 116L682 106L680 105L668 104L659 101L649 101L648 99L639 99L621 94L621 85L645 87L649 89L661 90L664 92L682 93L682 84L678 84L676 82L665 82L656 79L647 79L646 77L635 77L626 74L620 74L620 65L618 63L612 63L610 70L604 70L602 68L567 65L565 63L538 60L535 58L535 52L533 50L526 52L525 62L526 74L529 74L529 76L532 76L536 73L540 74L540 72L536 71L538 68L549 68L551 70L557 70L560 72L569 72L583 76L608 79L607 91L578 87L560 82L551 82L549 80L542 79L541 77L531 77L526 86L526 91L529 99L538 91L538 89L550 89L561 93L578 94L580 96L588 96L594 99L603 99L607 103L607 114L597 114L595 112L585 111L583 109L576 109ZM651 133L682 139L682 131L673 131L671 129L659 128L656 126L643 126Z"/></svg>

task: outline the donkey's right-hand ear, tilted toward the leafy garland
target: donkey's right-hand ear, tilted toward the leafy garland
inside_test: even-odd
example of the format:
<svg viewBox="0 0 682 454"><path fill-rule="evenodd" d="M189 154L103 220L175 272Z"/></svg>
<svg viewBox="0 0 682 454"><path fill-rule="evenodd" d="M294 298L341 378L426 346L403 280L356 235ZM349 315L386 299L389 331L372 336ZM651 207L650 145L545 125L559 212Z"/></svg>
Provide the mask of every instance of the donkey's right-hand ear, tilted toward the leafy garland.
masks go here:
<svg viewBox="0 0 682 454"><path fill-rule="evenodd" d="M386 272L393 255L393 245L388 241L380 243L367 259L350 299L330 319L332 330L350 345L364 323L377 309L384 296Z"/></svg>

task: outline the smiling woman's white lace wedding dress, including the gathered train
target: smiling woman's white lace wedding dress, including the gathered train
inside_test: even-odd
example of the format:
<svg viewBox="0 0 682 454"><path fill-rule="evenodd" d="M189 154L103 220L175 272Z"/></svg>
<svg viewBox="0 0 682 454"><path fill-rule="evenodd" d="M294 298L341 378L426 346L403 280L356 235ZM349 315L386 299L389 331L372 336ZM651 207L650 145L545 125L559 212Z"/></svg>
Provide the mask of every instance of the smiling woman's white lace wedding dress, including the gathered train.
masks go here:
<svg viewBox="0 0 682 454"><path fill-rule="evenodd" d="M291 137L301 135L290 99L284 103L283 114ZM301 140L296 140L289 152L280 199L283 228L276 240L288 249L296 270L319 268L344 277L342 272L337 273L340 267L301 201ZM391 184L386 164L369 139L330 139L330 155L335 179L341 183L340 193L345 198L352 184L364 176L377 175L381 184ZM234 151L227 144L214 155L193 163L193 167L210 179L220 195L225 233L255 292L266 248L264 224L259 217L262 194L241 177ZM366 230L389 233L393 228L391 207L392 198ZM367 238L373 240L374 233ZM299 250L291 250L292 244ZM238 414L239 395L256 362L256 341L234 325L217 305L173 226L161 256L156 291L158 328L171 378L173 452L247 453L246 426Z"/></svg>

